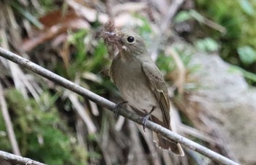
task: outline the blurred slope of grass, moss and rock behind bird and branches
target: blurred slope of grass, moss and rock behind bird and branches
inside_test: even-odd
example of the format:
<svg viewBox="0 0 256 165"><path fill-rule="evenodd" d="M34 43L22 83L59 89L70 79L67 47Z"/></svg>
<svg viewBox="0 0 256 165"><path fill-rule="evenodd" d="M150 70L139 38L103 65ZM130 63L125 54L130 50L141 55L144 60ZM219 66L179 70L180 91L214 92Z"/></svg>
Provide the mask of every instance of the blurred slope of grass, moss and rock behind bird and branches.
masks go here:
<svg viewBox="0 0 256 165"><path fill-rule="evenodd" d="M256 2L249 0L0 1L0 46L116 103L108 49L116 28L145 39L165 75L178 134L256 164ZM217 164L0 57L0 150L45 164ZM14 132L14 134L12 134ZM0 164L10 164L0 161Z"/></svg>

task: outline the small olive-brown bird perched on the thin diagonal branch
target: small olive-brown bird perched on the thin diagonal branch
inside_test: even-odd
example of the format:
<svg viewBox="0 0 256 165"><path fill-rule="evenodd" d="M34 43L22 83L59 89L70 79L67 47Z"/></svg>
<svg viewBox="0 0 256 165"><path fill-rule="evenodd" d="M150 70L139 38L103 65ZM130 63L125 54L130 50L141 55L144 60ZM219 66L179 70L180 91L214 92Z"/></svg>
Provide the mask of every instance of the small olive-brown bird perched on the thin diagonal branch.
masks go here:
<svg viewBox="0 0 256 165"><path fill-rule="evenodd" d="M151 60L143 39L132 32L105 32L108 45L118 48L110 66L110 77L116 84L124 100L131 107L146 114L144 121L170 128L170 100L164 77ZM170 142L161 135L154 134L157 146L172 150L179 156L184 151L176 142Z"/></svg>

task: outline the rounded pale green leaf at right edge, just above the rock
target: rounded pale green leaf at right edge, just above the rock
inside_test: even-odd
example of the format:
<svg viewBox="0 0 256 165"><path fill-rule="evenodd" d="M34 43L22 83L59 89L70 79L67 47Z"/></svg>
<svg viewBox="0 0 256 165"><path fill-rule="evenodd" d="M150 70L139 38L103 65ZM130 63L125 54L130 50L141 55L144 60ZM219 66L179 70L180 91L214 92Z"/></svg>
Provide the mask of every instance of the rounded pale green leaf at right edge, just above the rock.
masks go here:
<svg viewBox="0 0 256 165"><path fill-rule="evenodd" d="M256 61L256 51L250 46L239 47L238 55L243 64L250 65Z"/></svg>

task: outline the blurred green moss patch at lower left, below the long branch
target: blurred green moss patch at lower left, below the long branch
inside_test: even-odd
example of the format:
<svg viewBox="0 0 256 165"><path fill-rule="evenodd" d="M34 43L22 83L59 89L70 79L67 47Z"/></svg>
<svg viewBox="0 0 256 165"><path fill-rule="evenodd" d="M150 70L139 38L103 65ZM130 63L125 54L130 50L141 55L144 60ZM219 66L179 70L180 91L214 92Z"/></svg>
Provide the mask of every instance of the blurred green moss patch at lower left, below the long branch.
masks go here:
<svg viewBox="0 0 256 165"><path fill-rule="evenodd" d="M34 99L23 99L15 89L8 90L6 98L23 156L46 164L86 164L88 153L74 141L72 131L54 106L40 109ZM8 150L6 141L1 140L0 146Z"/></svg>

